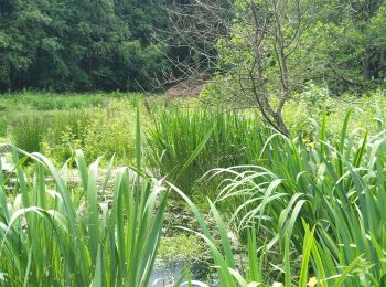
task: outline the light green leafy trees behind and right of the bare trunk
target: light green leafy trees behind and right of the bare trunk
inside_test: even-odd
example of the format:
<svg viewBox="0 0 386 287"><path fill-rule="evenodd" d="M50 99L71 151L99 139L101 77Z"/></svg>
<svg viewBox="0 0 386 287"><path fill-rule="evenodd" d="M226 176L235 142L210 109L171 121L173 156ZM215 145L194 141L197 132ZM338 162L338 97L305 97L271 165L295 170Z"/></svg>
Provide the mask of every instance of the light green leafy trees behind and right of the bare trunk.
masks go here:
<svg viewBox="0 0 386 287"><path fill-rule="evenodd" d="M274 2L278 19L274 17ZM294 100L299 93L314 87L342 96L346 92L367 95L384 86L384 1L300 1L299 11L293 10L293 3L235 1L229 34L216 44L218 72L206 83L204 100L260 109L262 105L269 114L264 95L269 94L267 100L276 108L286 94L280 91L283 75L289 78L289 98ZM281 24L287 73L281 73L276 43L280 38L271 28L276 21Z"/></svg>

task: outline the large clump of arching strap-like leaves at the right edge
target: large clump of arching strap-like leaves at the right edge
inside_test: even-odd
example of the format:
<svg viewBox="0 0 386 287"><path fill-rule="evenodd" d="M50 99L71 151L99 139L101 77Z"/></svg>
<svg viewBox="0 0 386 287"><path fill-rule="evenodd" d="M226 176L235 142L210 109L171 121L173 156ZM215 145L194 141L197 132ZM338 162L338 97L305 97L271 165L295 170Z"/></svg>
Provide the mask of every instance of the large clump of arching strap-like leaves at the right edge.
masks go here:
<svg viewBox="0 0 386 287"><path fill-rule="evenodd" d="M350 114L337 142L326 138L324 117L317 142L272 135L259 152L259 166L214 170L213 177L226 178L217 203L226 206L242 234L255 225L267 251L283 251L288 237L302 253L309 234L304 221L314 226L313 276L323 280L343 275L360 262L345 286L383 286L386 134L369 137L357 130L349 136L349 120ZM329 285L326 280L323 286Z"/></svg>

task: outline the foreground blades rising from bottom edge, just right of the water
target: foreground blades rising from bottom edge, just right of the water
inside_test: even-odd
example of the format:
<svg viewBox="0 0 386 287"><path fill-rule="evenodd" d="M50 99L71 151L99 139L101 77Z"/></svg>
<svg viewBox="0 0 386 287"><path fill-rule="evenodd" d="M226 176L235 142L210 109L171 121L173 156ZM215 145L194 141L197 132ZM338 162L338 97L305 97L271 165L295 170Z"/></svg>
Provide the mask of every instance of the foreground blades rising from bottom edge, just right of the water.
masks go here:
<svg viewBox="0 0 386 287"><path fill-rule="evenodd" d="M211 232L211 228L205 223L204 217L196 205L176 187L171 184L171 188L190 205L199 221L202 233L195 233L205 241L212 253L214 267L217 272L221 286L353 286L351 285L350 276L352 275L353 269L358 266L361 256L353 259L349 266L340 266L340 268L332 269L331 272L333 273L333 276L326 277L325 268L329 267L329 263L334 259L333 255L321 248L314 238L315 227L310 230L304 221L302 221L304 227L303 242L299 253L301 254L300 267L296 270L293 268L296 264L290 259L290 237L287 233L282 264L281 266L275 266L278 270L282 272L282 276L275 278L265 274L267 253L269 253L269 251L265 248L265 246L258 246L254 224L247 228L247 261L245 264L240 264L239 262L237 264L236 256L233 253L232 244L227 235L227 225L219 215L215 204L208 200L211 215L214 217L216 225L216 231ZM213 233L218 234L219 238L215 240ZM272 263L270 264L274 265ZM310 273L310 269L312 269L313 273ZM318 277L313 276L315 274ZM196 284L197 286L208 286L200 281L190 280L189 283Z"/></svg>

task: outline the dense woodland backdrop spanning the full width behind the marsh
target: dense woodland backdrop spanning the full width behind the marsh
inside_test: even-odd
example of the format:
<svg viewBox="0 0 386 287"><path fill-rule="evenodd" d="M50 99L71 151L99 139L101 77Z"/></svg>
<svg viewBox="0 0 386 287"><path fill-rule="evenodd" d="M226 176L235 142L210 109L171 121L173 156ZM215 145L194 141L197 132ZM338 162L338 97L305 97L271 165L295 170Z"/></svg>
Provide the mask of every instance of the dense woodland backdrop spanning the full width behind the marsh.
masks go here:
<svg viewBox="0 0 386 287"><path fill-rule="evenodd" d="M175 62L192 55L201 62L211 57L216 61L211 74L224 74L236 61L224 42L230 41L247 60L253 40L245 41L243 34L257 31L253 17L265 13L264 21L274 22L274 10L265 11L260 2L250 7L248 1L216 0L199 7L187 0L0 0L0 91L150 89L151 78L176 73ZM304 0L298 7L291 7L297 1L283 2L282 36L297 40L288 65L307 75L298 76L299 82L328 83L339 93L383 82L384 1ZM232 26L222 25L224 19ZM264 26L262 20L255 25ZM200 53L196 46L210 46L211 53ZM276 65L274 50L264 52L265 70Z"/></svg>

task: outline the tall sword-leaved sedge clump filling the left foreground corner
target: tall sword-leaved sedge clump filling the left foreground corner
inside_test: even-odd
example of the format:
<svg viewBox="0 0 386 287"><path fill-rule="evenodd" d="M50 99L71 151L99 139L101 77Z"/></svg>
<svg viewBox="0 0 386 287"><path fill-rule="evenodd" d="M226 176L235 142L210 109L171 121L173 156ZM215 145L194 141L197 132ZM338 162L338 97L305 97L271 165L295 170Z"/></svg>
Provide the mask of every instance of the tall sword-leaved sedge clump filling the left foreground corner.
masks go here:
<svg viewBox="0 0 386 287"><path fill-rule="evenodd" d="M140 149L139 125L137 138ZM66 167L58 170L40 153L13 150L18 188L6 193L10 179L0 174L0 285L147 286L167 193L140 172L141 153L138 172L110 164L100 187L99 159L87 167L77 150L73 159L81 182L71 188ZM33 161L33 177L24 171L25 158Z"/></svg>

